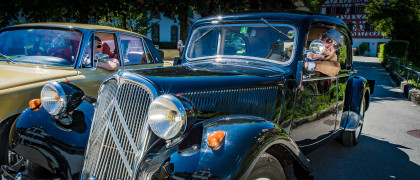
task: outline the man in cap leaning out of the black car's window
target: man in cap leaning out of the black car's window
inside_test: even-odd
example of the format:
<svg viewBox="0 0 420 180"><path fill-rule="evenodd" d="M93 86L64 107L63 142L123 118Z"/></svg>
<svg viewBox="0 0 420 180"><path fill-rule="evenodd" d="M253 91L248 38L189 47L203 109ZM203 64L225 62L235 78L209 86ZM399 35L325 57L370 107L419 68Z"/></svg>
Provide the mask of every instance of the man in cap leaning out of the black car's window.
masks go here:
<svg viewBox="0 0 420 180"><path fill-rule="evenodd" d="M343 37L334 29L326 31L318 38L325 44L322 54L308 52L305 59L305 69L309 73L320 72L328 76L335 76L340 71L336 51L343 45Z"/></svg>

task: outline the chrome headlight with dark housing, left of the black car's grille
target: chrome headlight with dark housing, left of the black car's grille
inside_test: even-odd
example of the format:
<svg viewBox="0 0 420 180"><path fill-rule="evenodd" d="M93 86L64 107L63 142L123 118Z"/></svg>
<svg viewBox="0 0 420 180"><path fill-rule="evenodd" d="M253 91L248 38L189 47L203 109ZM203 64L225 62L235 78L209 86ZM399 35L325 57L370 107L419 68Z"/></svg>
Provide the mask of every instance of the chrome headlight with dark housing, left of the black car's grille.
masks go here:
<svg viewBox="0 0 420 180"><path fill-rule="evenodd" d="M76 109L83 96L83 91L77 86L53 81L42 88L41 103L51 115L61 116Z"/></svg>

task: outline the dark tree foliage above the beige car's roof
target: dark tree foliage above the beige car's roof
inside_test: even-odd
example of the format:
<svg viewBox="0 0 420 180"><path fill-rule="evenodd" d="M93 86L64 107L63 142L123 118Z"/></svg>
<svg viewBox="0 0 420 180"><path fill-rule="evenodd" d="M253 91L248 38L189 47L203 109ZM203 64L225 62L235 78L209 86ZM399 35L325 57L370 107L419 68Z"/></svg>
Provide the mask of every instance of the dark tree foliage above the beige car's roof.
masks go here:
<svg viewBox="0 0 420 180"><path fill-rule="evenodd" d="M11 0L0 3L0 27L26 22L88 23L92 19L101 24L147 33L151 24L148 9L136 0Z"/></svg>

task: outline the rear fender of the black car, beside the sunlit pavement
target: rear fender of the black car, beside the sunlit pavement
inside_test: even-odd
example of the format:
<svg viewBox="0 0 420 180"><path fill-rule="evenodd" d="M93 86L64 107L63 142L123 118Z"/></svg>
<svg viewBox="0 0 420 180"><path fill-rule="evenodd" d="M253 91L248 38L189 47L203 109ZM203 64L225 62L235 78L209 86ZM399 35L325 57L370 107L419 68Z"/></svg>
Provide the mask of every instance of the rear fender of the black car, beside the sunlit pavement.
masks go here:
<svg viewBox="0 0 420 180"><path fill-rule="evenodd" d="M363 123L363 118L359 119L359 117L345 114L351 113L360 115L360 112L362 112L360 107L363 98L366 100L365 110L367 110L370 103L370 94L373 93L374 85L374 80L367 80L360 76L351 76L347 80L340 128L344 130L353 130L357 128L360 123Z"/></svg>

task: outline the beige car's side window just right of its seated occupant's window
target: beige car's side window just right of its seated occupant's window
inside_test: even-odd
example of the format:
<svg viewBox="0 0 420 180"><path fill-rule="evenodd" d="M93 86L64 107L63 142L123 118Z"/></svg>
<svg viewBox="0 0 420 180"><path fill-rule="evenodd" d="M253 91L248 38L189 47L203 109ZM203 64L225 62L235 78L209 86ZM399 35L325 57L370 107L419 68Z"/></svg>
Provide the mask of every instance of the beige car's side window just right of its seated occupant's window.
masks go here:
<svg viewBox="0 0 420 180"><path fill-rule="evenodd" d="M138 37L121 35L121 52L124 65L147 64L147 53L143 47L143 41Z"/></svg>

